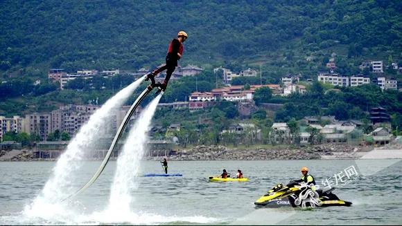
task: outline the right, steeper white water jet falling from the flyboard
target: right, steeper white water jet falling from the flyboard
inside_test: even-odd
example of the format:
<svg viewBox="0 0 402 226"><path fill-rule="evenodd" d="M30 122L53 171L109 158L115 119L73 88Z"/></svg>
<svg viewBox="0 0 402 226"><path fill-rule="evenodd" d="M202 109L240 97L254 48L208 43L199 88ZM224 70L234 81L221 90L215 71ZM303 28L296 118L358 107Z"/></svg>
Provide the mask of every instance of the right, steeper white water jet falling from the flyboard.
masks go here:
<svg viewBox="0 0 402 226"><path fill-rule="evenodd" d="M107 211L115 214L130 214L132 197L130 191L135 188L134 177L139 171L140 160L146 150L150 122L161 99L159 94L141 113L125 140L123 151L117 160L116 173L110 193Z"/></svg>

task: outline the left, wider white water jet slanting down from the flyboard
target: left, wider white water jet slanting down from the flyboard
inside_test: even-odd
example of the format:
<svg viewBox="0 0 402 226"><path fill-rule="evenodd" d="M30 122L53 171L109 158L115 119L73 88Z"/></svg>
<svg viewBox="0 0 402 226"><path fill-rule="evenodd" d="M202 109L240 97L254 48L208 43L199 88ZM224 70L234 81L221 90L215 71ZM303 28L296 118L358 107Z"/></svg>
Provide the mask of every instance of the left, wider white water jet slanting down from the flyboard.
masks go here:
<svg viewBox="0 0 402 226"><path fill-rule="evenodd" d="M137 79L129 86L123 88L119 93L111 97L103 106L100 107L88 122L81 127L76 136L69 142L67 149L62 153L58 162L53 168L49 180L46 182L42 193L37 196L30 207L26 209L35 209L35 204L42 206L44 203L55 204L60 202L68 194L71 194L74 187L73 181L79 173L76 171L82 166L83 154L85 151L94 149L98 138L102 137L106 127L107 120L110 119L112 109L119 108L130 97L132 92L143 82L143 77ZM76 189L76 188L75 188Z"/></svg>

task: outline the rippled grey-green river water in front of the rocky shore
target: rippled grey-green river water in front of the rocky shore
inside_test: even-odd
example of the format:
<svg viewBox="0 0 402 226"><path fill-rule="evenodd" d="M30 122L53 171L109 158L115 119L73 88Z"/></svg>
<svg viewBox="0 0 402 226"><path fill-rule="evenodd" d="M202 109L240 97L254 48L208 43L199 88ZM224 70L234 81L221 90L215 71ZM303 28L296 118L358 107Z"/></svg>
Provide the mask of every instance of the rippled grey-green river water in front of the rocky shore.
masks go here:
<svg viewBox="0 0 402 226"><path fill-rule="evenodd" d="M82 186L100 162L85 162L80 178L71 181ZM70 202L44 205L32 210L55 162L0 162L0 225L384 225L402 223L402 161L400 160L288 160L288 161L195 161L169 162L169 173L182 177L132 178L131 211L108 210L110 187L116 162L110 162L103 175ZM317 183L345 169L356 169L353 181L334 191L351 207L302 209L281 207L255 209L254 201L277 182L300 177L307 166ZM208 182L208 176L222 169L241 169L249 182ZM143 173L162 173L161 164L143 161ZM344 179L344 178L343 178ZM69 194L65 194L68 196Z"/></svg>

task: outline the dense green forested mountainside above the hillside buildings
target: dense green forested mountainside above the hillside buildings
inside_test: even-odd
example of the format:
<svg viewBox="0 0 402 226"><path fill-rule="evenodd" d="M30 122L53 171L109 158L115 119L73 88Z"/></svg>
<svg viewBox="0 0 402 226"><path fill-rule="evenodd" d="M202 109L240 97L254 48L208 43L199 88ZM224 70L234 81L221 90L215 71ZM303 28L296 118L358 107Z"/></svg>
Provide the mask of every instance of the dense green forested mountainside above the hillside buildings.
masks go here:
<svg viewBox="0 0 402 226"><path fill-rule="evenodd" d="M311 73L333 51L359 60L400 59L401 12L399 0L3 0L0 70L156 66L177 31L186 30L182 64ZM305 65L311 55L313 68Z"/></svg>

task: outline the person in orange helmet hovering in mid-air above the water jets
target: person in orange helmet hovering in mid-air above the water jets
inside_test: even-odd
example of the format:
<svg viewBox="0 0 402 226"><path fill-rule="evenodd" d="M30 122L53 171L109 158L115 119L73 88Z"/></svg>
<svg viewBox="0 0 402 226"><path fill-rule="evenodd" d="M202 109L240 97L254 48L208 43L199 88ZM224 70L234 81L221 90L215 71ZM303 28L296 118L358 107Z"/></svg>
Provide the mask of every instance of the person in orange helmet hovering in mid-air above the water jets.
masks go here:
<svg viewBox="0 0 402 226"><path fill-rule="evenodd" d="M184 31L180 31L177 33L177 39L173 39L171 41L171 44L169 44L168 47L168 53L166 55L166 64L161 66L160 68L157 68L156 70L153 70L151 73L148 73L146 75L146 81L148 79L151 80L152 84L148 86L149 90L152 90L154 87L159 87L161 91L166 90L166 86L168 85L169 79L171 79L173 71L175 71L175 68L177 66L177 61L182 58L183 51L184 51L184 46L183 42L186 41L187 39L187 33ZM162 71L166 70L166 77L163 83L155 83L155 76Z"/></svg>

